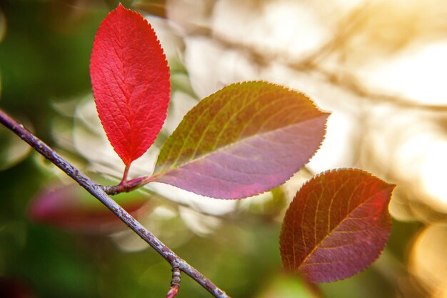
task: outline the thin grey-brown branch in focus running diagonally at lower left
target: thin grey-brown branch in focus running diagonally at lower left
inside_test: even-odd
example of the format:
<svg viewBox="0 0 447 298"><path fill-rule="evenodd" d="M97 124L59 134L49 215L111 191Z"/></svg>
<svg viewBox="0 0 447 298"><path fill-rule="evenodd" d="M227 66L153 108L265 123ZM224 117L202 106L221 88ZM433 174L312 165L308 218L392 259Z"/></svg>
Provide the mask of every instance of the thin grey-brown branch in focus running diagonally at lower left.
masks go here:
<svg viewBox="0 0 447 298"><path fill-rule="evenodd" d="M54 152L48 145L46 145L43 141L38 139L34 134L31 134L30 131L24 128L22 124L17 123L14 119L12 119L8 114L0 109L0 123L6 126L6 128L10 129L21 139L26 141L31 147L33 147L37 152L42 154L46 159L59 167L63 172L65 172L69 177L74 179L76 182L84 187L92 196L99 199L99 201L104 204L107 208L113 212L116 217L119 217L121 221L123 221L128 227L130 227L136 234L141 237L145 242L147 242L153 249L158 252L161 257L164 257L166 261L171 264L173 269L180 269L182 272L188 274L192 279L194 279L198 284L200 284L204 289L210 292L214 297L218 298L230 298L228 295L216 287L213 282L207 279L203 274L199 271L191 267L184 259L181 259L178 255L176 255L169 247L157 239L154 234L149 232L145 227L143 227L131 214L127 213L119 204L117 204L111 197L109 197L102 186L89 177L86 177L84 173L76 169L73 165L66 161L59 154ZM174 272L173 272L174 276Z"/></svg>

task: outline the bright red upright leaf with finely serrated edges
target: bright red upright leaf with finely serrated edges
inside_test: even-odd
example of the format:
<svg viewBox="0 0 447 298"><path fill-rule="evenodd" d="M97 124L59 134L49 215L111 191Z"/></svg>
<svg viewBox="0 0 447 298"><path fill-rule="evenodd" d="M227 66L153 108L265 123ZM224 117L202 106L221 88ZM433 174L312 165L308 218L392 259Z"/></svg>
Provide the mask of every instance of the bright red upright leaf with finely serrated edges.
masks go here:
<svg viewBox="0 0 447 298"><path fill-rule="evenodd" d="M154 143L170 93L166 57L141 14L119 4L106 16L93 44L90 76L99 119L129 166Z"/></svg>

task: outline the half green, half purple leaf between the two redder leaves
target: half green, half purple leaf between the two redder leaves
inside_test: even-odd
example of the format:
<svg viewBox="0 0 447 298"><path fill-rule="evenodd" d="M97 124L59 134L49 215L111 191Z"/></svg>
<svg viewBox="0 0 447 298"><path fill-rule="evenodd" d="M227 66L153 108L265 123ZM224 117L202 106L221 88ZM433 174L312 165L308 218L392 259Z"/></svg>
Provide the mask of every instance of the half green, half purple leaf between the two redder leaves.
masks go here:
<svg viewBox="0 0 447 298"><path fill-rule="evenodd" d="M266 192L308 162L327 117L283 86L231 84L186 114L161 149L154 181L220 199Z"/></svg>

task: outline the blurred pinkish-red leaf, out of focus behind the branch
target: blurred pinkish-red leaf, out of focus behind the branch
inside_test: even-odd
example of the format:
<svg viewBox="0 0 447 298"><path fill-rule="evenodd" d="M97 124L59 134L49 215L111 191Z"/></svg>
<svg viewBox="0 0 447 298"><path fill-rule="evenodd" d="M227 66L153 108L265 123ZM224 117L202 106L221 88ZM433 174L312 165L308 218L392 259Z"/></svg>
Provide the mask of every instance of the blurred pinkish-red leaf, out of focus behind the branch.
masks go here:
<svg viewBox="0 0 447 298"><path fill-rule="evenodd" d="M136 215L136 212L144 211L146 203L146 198L129 197L128 194L121 206ZM29 217L34 222L76 232L113 232L125 227L101 203L91 200L91 196L79 185L44 189L31 203Z"/></svg>

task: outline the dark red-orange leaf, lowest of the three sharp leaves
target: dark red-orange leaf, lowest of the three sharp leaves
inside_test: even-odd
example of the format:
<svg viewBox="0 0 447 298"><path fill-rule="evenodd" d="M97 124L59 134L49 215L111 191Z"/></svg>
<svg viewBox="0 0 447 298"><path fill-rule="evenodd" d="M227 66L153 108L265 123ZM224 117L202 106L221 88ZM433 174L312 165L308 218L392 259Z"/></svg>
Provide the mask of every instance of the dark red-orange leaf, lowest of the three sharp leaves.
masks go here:
<svg viewBox="0 0 447 298"><path fill-rule="evenodd" d="M310 282L333 282L368 267L388 241L394 187L358 169L311 179L283 220L279 242L284 268Z"/></svg>

